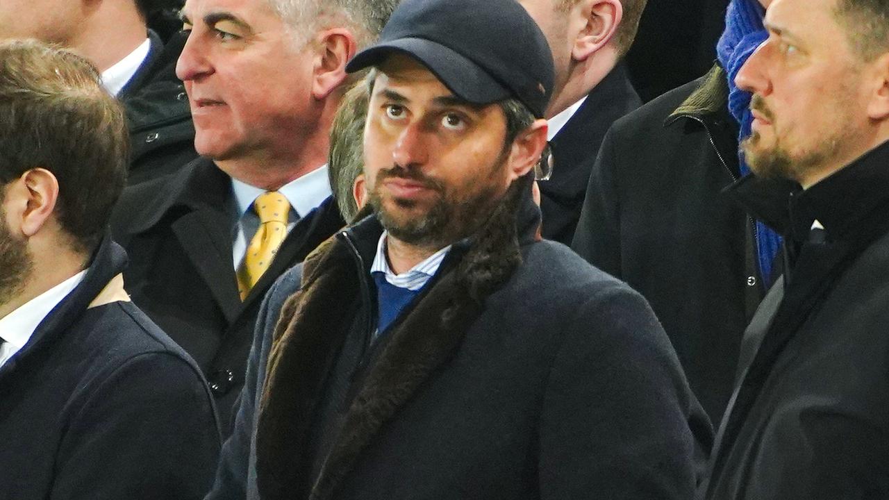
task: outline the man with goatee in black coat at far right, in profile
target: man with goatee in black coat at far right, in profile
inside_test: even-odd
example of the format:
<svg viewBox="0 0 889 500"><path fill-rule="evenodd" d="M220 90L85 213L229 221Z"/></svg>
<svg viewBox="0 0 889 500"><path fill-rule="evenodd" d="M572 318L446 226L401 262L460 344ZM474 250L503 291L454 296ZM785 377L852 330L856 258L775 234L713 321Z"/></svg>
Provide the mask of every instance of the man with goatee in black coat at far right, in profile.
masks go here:
<svg viewBox="0 0 889 500"><path fill-rule="evenodd" d="M889 497L889 4L774 0L731 188L787 268L744 334L707 498Z"/></svg>

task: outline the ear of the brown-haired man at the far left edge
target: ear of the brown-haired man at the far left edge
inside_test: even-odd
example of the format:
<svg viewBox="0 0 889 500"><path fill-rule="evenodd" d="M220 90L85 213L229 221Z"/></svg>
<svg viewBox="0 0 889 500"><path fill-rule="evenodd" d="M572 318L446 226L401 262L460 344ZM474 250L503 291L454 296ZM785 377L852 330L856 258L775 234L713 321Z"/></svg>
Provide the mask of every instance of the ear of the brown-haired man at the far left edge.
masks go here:
<svg viewBox="0 0 889 500"><path fill-rule="evenodd" d="M37 234L52 216L59 181L44 168L32 168L6 185L4 209L10 229L25 238Z"/></svg>

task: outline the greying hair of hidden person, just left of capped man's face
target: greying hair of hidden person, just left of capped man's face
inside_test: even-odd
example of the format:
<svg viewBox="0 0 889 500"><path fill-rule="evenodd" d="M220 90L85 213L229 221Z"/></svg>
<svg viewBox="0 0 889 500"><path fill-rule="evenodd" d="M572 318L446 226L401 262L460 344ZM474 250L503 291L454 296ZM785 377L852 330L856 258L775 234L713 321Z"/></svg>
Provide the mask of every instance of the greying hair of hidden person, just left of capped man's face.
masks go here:
<svg viewBox="0 0 889 500"><path fill-rule="evenodd" d="M333 198L340 206L346 222L358 214L352 187L364 171L364 121L369 99L366 85L355 85L346 93L331 125L331 148L327 157L327 173Z"/></svg>

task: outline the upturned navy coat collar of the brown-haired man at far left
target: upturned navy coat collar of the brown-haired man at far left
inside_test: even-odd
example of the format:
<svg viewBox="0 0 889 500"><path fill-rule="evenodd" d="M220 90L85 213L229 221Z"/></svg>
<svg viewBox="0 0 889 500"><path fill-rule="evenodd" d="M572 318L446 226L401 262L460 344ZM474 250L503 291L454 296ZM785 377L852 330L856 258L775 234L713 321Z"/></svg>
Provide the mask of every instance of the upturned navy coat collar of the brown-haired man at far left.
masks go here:
<svg viewBox="0 0 889 500"><path fill-rule="evenodd" d="M119 300L120 295L112 296L111 292L116 289L115 278L123 272L126 262L124 249L106 235L93 254L84 279L44 318L21 351L0 368L0 375L8 373L22 361L51 345L60 335L64 335L68 329L75 326L84 311L91 306L98 307L101 305L99 302ZM100 296L106 289L108 293Z"/></svg>

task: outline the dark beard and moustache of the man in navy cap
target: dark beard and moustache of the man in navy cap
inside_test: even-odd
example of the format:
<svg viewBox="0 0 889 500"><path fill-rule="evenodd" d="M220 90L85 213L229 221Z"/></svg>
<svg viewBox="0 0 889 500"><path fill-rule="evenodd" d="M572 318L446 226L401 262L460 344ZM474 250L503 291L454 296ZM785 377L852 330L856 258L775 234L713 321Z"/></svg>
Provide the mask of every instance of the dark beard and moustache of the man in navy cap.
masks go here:
<svg viewBox="0 0 889 500"><path fill-rule="evenodd" d="M500 158L497 165L501 165ZM379 192L382 182L392 177L422 182L428 189L436 191L438 194L436 202L426 214L407 221L399 221L396 216L388 213ZM456 200L437 181L400 166L380 170L377 173L375 186L376 188L370 193L368 203L373 207L382 226L393 238L412 246L428 248L448 246L475 232L485 222L483 214L486 213L486 209L495 206L500 198L493 186L487 186L472 198ZM392 201L404 208L412 208L414 205L410 200Z"/></svg>

